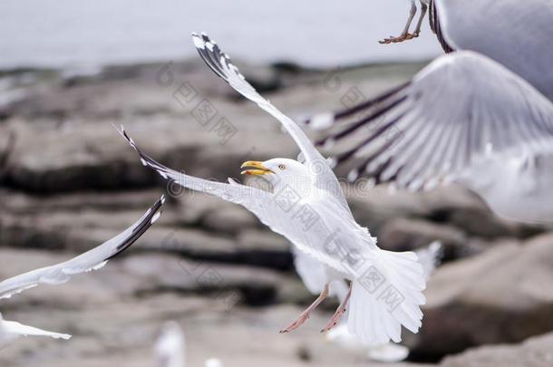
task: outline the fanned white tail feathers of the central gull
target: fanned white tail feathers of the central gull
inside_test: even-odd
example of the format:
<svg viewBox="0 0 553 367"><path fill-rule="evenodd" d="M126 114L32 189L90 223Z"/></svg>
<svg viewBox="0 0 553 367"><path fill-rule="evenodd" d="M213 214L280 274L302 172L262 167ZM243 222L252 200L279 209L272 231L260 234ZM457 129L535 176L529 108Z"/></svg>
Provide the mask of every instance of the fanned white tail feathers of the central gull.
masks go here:
<svg viewBox="0 0 553 367"><path fill-rule="evenodd" d="M373 265L353 281L350 333L371 344L401 342L402 325L417 333L424 288L422 265L414 253L378 251Z"/></svg>

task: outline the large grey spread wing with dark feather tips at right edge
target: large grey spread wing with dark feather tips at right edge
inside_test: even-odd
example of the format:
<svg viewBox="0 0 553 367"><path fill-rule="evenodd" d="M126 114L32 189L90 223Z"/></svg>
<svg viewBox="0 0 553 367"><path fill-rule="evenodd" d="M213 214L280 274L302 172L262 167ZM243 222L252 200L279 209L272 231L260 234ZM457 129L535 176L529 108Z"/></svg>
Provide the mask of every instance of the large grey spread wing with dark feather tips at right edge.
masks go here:
<svg viewBox="0 0 553 367"><path fill-rule="evenodd" d="M361 111L365 117L319 143L355 135L361 143L335 160L361 159L351 177L369 175L375 183L430 188L491 154L551 149L553 103L479 53L441 56L412 82L335 120Z"/></svg>

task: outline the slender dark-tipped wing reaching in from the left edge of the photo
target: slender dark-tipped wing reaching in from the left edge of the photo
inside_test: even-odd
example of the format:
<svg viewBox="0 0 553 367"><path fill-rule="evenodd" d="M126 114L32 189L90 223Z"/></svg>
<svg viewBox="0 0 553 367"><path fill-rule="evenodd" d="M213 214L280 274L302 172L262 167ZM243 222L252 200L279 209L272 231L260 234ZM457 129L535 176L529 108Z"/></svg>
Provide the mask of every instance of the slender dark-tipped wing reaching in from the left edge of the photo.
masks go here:
<svg viewBox="0 0 553 367"><path fill-rule="evenodd" d="M68 282L73 275L102 268L108 260L121 254L146 232L160 217L160 208L164 202L165 198L161 197L134 225L81 256L6 279L0 283L0 299L10 298L36 285L61 285Z"/></svg>

